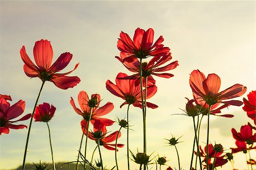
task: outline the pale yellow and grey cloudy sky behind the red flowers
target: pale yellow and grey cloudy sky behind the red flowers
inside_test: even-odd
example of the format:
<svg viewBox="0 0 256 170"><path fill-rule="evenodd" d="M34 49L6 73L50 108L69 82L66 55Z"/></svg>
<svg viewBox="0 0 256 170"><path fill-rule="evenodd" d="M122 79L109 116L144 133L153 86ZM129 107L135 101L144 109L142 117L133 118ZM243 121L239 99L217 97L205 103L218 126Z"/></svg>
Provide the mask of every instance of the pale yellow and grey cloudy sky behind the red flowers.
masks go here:
<svg viewBox="0 0 256 170"><path fill-rule="evenodd" d="M106 90L106 80L114 82L118 73L131 74L115 59L119 55L117 40L121 31L131 37L136 28L155 31L154 41L163 36L163 44L171 49L172 61L178 61L170 79L155 78L158 92L150 100L157 109L147 109L148 154L166 156L167 164L178 166L174 147L164 139L171 134L183 141L177 145L181 167L189 169L193 142L192 118L181 116L185 108L184 97L192 98L189 74L196 69L205 75L215 73L221 78L221 89L240 83L247 87L246 97L255 90L255 1L0 1L0 93L11 95L16 103L26 101L24 114L31 113L42 81L28 78L23 71L19 50L24 45L34 61L32 49L35 41L47 39L53 48L53 61L61 53L73 54L71 63L63 70L79 67L71 75L81 82L74 88L61 90L46 82L39 104L47 102L57 109L49 122L55 162L76 160L81 140L80 121L71 104L77 103L80 91L89 95L100 94L101 105L108 101L114 110L105 117L124 118L127 107L119 108L123 100ZM238 97L238 100L242 100ZM210 142L225 148L235 147L231 129L240 130L252 122L242 107L229 107L223 113L233 118L210 117ZM173 115L174 114L174 115ZM29 121L20 122L28 125ZM142 114L130 108L130 150L143 150ZM206 120L201 128L201 145L206 141ZM114 124L108 131L118 130ZM126 131L121 131L118 143L126 143ZM0 169L12 169L22 164L27 129L11 129L0 139ZM88 153L96 146L89 141ZM228 150L229 151L229 150ZM102 148L107 168L114 166L114 151ZM113 155L113 156L109 156ZM255 158L256 153L252 153ZM97 156L95 157L97 158ZM33 122L26 162L51 162L48 131L44 122ZM245 155L234 155L235 167L246 168ZM118 152L120 169L126 168L126 148ZM138 165L131 163L132 169ZM230 169L230 163L223 169Z"/></svg>

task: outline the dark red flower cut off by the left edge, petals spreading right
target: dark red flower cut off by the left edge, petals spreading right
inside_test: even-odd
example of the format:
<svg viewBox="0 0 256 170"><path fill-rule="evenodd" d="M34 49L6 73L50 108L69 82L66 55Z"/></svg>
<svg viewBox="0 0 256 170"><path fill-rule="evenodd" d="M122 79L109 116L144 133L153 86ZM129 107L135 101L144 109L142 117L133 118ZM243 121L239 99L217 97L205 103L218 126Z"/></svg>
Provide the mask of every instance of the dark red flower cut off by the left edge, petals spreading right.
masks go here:
<svg viewBox="0 0 256 170"><path fill-rule="evenodd" d="M9 134L10 129L23 129L27 128L26 125L14 125L13 123L18 121L28 120L31 114L26 114L22 118L16 121L11 121L14 118L20 116L25 109L25 101L19 100L14 105L10 106L10 103L3 97L0 97L0 135L2 133Z"/></svg>

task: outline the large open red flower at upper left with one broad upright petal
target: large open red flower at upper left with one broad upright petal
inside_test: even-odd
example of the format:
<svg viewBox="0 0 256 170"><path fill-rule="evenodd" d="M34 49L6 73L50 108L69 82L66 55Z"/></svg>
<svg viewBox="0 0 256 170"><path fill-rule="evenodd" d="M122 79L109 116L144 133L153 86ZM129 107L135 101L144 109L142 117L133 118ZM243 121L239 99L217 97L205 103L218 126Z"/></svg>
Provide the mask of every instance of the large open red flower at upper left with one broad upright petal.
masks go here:
<svg viewBox="0 0 256 170"><path fill-rule="evenodd" d="M22 49L20 49L20 56L25 63L23 67L25 74L31 78L39 77L43 82L48 80L61 89L74 87L80 82L80 79L77 76L65 76L76 70L79 63L77 63L75 68L68 73L57 73L68 65L72 59L72 54L67 52L61 54L55 63L51 65L53 51L50 41L48 40L35 42L34 58L37 66L28 57L25 46L22 46Z"/></svg>

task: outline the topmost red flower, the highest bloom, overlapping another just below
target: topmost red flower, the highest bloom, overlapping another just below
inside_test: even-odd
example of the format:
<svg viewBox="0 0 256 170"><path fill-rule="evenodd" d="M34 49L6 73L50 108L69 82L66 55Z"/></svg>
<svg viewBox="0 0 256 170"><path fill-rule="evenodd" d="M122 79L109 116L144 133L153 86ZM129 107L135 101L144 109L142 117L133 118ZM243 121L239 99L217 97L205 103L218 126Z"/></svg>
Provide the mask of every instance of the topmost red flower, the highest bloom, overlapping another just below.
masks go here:
<svg viewBox="0 0 256 170"><path fill-rule="evenodd" d="M170 48L164 47L162 44L163 36L160 36L158 40L154 40L154 30L152 28L144 29L137 28L134 33L133 40L127 33L121 32L120 39L117 41L117 48L124 53L127 53L127 57L123 58L123 61L133 62L136 58L147 58L150 56L166 56L170 53Z"/></svg>

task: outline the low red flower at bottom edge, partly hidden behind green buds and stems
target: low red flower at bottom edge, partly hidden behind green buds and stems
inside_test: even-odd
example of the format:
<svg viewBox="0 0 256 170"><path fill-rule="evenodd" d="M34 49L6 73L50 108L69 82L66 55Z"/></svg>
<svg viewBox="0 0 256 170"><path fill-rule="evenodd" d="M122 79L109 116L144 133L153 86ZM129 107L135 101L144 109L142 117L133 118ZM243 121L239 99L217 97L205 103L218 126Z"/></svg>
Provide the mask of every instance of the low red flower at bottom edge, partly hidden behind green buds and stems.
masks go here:
<svg viewBox="0 0 256 170"><path fill-rule="evenodd" d="M213 150L212 144L209 144L208 147L209 147L209 161L208 161L208 165L209 165L209 169L212 169L213 159L214 159L214 156L216 154L216 151ZM199 146L199 148L200 148L200 156L204 157L203 162L206 163L207 162L206 161L206 158L207 158L207 154L206 154L207 146L204 147L204 150L201 148L201 146ZM225 155L222 155L221 152L217 152L214 167L220 167L220 166L222 166L222 165L224 165L224 164L226 164L228 162L228 160L224 159L224 156ZM212 161L211 161L211 158L212 158ZM205 164L204 165L204 169L206 169L206 168L207 168L207 165Z"/></svg>

